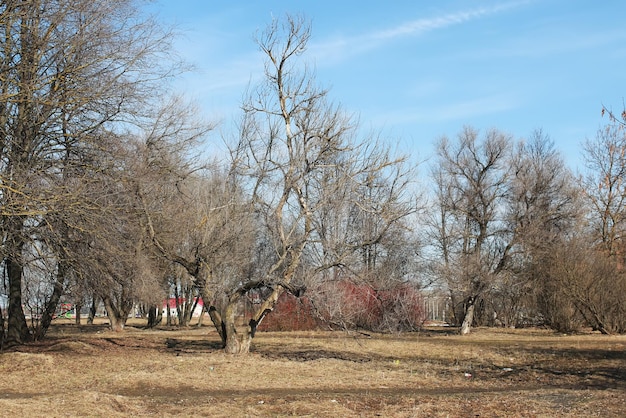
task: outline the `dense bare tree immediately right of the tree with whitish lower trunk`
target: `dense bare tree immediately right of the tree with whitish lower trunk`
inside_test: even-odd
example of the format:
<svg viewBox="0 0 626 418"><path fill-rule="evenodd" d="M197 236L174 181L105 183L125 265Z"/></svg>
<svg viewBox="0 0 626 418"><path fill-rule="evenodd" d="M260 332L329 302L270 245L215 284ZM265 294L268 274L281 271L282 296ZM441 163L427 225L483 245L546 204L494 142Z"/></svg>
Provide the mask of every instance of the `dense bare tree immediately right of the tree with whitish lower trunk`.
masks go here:
<svg viewBox="0 0 626 418"><path fill-rule="evenodd" d="M506 198L513 238L510 274L497 289L494 304L500 305L497 312L508 312L501 319L514 325L554 317L559 305L553 303L556 288L548 271L555 252L576 233L582 211L574 178L542 131L518 143L510 166Z"/></svg>

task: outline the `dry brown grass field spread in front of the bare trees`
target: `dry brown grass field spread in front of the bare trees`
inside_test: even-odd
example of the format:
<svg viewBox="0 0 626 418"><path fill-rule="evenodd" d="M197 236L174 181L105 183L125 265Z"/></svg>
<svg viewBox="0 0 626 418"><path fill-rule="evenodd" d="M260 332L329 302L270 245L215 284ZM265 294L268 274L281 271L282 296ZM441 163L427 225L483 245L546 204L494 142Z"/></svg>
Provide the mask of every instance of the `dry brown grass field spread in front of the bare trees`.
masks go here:
<svg viewBox="0 0 626 418"><path fill-rule="evenodd" d="M208 326L60 321L0 354L0 416L621 417L626 336L259 333L232 356Z"/></svg>

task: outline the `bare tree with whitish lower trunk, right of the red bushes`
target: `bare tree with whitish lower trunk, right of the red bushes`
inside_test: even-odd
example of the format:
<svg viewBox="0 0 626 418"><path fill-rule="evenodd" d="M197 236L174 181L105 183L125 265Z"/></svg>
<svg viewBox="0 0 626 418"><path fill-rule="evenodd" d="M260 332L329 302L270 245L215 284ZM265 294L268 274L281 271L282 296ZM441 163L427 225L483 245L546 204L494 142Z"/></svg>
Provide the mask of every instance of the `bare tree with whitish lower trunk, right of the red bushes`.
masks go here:
<svg viewBox="0 0 626 418"><path fill-rule="evenodd" d="M471 128L455 143L442 138L437 146L438 274L450 289L462 334L469 333L476 306L502 273L511 249L501 204L510 149L511 139L501 132L489 131L480 140Z"/></svg>

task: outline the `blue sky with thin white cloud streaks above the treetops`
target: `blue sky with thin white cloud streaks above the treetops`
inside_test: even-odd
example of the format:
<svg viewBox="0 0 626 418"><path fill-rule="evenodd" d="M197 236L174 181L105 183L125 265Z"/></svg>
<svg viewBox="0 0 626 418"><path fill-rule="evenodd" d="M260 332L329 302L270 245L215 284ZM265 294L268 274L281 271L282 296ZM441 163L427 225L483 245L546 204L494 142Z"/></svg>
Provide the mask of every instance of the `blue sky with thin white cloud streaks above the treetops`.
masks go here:
<svg viewBox="0 0 626 418"><path fill-rule="evenodd" d="M149 6L180 33L178 53L195 67L176 89L229 135L264 57L254 36L274 18L312 25L303 60L330 98L414 161L464 126L514 138L550 136L573 170L581 144L621 113L626 97L626 2L207 1ZM220 141L219 139L213 139Z"/></svg>

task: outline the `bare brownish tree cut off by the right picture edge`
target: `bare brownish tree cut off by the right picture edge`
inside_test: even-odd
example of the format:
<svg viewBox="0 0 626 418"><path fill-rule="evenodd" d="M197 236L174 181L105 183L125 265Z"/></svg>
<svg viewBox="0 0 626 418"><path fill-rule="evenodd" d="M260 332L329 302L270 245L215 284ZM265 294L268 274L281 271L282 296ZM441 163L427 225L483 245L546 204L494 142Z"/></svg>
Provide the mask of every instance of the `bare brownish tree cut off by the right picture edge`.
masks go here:
<svg viewBox="0 0 626 418"><path fill-rule="evenodd" d="M610 114L610 123L597 132L595 139L584 144L583 155L586 171L581 178L581 188L587 204L589 231L581 235L587 245L581 249L578 241L572 243L571 252L579 254L578 267L559 271L564 275L563 292L595 329L603 333L623 333L626 260L623 120Z"/></svg>

